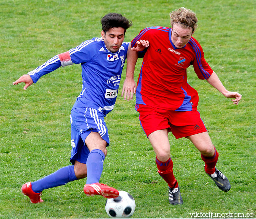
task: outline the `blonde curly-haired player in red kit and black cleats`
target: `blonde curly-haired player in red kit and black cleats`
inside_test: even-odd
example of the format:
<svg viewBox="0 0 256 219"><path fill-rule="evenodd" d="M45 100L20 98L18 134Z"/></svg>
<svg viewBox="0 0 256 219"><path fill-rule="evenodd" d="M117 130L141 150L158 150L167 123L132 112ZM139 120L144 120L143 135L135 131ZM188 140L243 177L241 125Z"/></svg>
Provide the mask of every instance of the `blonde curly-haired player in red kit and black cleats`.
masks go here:
<svg viewBox="0 0 256 219"><path fill-rule="evenodd" d="M238 104L241 94L225 89L211 69L200 44L192 37L197 27L194 12L180 8L170 13L172 28L149 27L140 31L131 50L140 42L147 47L136 87L136 110L141 126L156 154L158 173L169 187L170 204L182 204L180 188L173 175L168 132L186 137L200 151L204 170L222 191L229 191L229 180L215 166L218 152L197 111L198 94L187 82L187 68L193 65L199 79L206 79L225 97ZM144 40L144 41L143 41ZM145 43L146 42L146 43ZM135 93L133 72L138 58L127 62L122 96L129 100Z"/></svg>

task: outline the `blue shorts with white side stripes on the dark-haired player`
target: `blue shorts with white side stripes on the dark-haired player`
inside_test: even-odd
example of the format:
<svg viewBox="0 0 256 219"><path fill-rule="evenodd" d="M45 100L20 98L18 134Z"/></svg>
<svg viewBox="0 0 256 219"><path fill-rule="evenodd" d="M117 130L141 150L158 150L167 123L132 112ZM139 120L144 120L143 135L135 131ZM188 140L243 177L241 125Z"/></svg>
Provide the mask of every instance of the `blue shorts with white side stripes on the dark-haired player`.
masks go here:
<svg viewBox="0 0 256 219"><path fill-rule="evenodd" d="M70 162L72 164L75 164L76 160L86 164L90 151L84 141L91 132L98 132L107 142L107 146L109 145L108 128L101 111L90 107L72 109L70 123L72 146Z"/></svg>

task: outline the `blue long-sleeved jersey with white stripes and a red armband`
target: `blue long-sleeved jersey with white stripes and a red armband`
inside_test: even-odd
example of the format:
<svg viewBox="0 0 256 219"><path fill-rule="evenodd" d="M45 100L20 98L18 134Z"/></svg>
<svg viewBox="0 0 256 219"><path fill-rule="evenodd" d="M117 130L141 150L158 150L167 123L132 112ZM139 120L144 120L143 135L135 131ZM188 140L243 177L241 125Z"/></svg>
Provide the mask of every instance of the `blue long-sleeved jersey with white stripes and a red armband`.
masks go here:
<svg viewBox="0 0 256 219"><path fill-rule="evenodd" d="M36 83L42 75L61 65L81 63L83 87L72 109L91 107L102 110L106 115L116 102L128 46L129 43L123 42L120 49L112 53L106 48L102 38L93 38L69 50L64 58L61 54L56 55L28 74Z"/></svg>

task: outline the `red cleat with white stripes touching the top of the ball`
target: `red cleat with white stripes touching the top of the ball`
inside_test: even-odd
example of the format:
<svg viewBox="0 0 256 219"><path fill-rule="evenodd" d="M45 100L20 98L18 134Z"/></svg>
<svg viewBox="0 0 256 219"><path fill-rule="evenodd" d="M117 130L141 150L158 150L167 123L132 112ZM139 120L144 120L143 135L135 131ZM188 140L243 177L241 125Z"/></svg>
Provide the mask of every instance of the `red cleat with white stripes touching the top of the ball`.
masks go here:
<svg viewBox="0 0 256 219"><path fill-rule="evenodd" d="M112 199L119 196L117 189L102 183L85 184L83 187L87 196L102 195L104 198Z"/></svg>

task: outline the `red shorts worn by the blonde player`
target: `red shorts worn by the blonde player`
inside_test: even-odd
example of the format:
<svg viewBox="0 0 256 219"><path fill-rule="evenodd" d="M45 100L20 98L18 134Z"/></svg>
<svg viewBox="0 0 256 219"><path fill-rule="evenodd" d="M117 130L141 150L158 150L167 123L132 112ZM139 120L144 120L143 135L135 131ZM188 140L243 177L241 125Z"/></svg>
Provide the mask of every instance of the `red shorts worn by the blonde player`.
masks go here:
<svg viewBox="0 0 256 219"><path fill-rule="evenodd" d="M139 120L147 137L154 131L167 129L178 138L207 132L200 113L192 111L174 111L136 104L135 109L140 113Z"/></svg>

